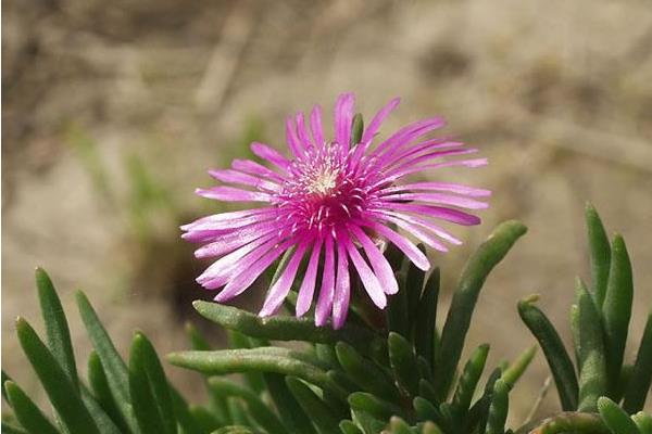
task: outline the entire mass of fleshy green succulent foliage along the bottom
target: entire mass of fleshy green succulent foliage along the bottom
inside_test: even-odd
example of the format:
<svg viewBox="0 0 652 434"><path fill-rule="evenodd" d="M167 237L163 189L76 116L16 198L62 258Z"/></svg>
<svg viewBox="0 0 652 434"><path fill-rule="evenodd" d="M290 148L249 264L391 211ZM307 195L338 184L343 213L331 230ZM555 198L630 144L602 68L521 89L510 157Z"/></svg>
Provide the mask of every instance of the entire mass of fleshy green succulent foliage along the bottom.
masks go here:
<svg viewBox="0 0 652 434"><path fill-rule="evenodd" d="M610 259L603 260L604 238L595 235L604 232L602 225L592 208L587 215L593 276L605 283L593 283L590 291L578 283L573 311L579 380L555 329L534 305L535 298L519 304L524 321L549 361L564 410L542 421L515 431L505 427L510 391L536 347L493 368L481 386L488 345L477 347L460 367L484 282L526 231L519 222L507 221L471 256L441 330L436 320L439 270L426 276L391 248L386 255L398 270L401 291L384 312L363 299L354 301L353 312L340 330L317 328L311 319L260 318L235 307L196 302L200 315L229 330L229 348L211 349L198 330L188 326L192 349L172 354L168 360L204 375L209 392L204 405L189 405L176 391L141 332L134 334L125 362L79 292L79 314L95 348L84 381L77 373L61 302L48 275L37 269L46 339L43 342L24 319L16 321L16 332L53 417L2 372L2 394L12 408L3 414L2 432L650 434L652 418L640 410L650 390L652 326L649 320L632 369L620 369L630 372L630 380L615 383L610 372L613 363L622 360L617 353L622 345L616 345L616 352L609 349L615 341L610 341L607 330L622 333L622 324L629 321L623 302L631 304L629 261L618 237L609 250ZM276 277L283 267L284 259ZM290 312L293 299L289 297L287 304ZM603 308L599 310L600 299ZM606 314L604 306L619 316ZM606 321L620 328L607 329L603 326ZM290 341L296 344L279 344ZM240 376L230 376L233 373ZM616 387L618 384L626 387Z"/></svg>

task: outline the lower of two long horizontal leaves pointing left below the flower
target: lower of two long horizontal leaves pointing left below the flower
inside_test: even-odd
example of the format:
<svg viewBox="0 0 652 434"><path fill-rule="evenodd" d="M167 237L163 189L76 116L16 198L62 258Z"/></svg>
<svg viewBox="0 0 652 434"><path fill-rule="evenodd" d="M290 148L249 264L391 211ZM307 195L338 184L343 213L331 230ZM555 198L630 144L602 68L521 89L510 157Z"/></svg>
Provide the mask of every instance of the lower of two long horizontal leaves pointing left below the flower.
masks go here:
<svg viewBox="0 0 652 434"><path fill-rule="evenodd" d="M259 371L294 375L331 392L340 399L347 398L347 392L333 383L326 372L297 359L294 354L287 348L260 347L173 353L167 356L167 359L172 365L211 374Z"/></svg>

